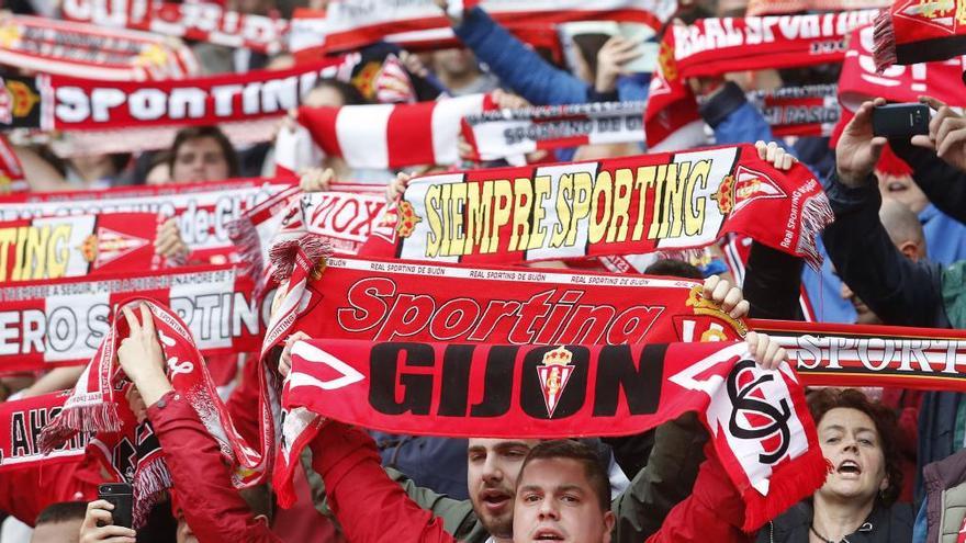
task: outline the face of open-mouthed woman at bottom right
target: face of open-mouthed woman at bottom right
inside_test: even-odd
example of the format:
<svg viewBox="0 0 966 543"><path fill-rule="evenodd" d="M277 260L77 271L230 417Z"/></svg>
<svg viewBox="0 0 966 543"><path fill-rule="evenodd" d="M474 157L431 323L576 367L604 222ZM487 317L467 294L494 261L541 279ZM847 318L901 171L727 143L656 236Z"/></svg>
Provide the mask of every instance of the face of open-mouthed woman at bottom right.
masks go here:
<svg viewBox="0 0 966 543"><path fill-rule="evenodd" d="M822 417L818 430L822 454L832 463L819 494L836 500L872 501L888 487L883 444L868 415L836 407Z"/></svg>

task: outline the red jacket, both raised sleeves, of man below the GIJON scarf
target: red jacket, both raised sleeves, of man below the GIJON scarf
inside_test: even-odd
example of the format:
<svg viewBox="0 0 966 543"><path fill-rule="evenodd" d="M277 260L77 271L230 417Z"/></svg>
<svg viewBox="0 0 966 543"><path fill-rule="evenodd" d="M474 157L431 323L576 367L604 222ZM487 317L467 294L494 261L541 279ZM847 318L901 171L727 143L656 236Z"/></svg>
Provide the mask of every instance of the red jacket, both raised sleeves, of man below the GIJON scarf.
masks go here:
<svg viewBox="0 0 966 543"><path fill-rule="evenodd" d="M380 465L375 443L367 433L329 422L310 444L312 467L325 480L329 505L353 543L451 543L442 521L406 496ZM678 504L649 543L744 543L738 527L744 504L721 464L708 449L694 493Z"/></svg>

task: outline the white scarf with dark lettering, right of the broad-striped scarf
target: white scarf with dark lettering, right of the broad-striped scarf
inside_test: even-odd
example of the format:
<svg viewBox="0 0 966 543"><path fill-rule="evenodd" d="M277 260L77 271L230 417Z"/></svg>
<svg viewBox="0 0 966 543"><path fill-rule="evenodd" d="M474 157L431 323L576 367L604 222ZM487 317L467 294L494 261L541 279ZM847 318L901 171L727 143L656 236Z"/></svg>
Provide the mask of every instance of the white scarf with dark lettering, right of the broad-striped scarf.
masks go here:
<svg viewBox="0 0 966 543"><path fill-rule="evenodd" d="M645 102L595 102L488 111L464 117L462 135L474 160L587 144L643 144L644 108Z"/></svg>

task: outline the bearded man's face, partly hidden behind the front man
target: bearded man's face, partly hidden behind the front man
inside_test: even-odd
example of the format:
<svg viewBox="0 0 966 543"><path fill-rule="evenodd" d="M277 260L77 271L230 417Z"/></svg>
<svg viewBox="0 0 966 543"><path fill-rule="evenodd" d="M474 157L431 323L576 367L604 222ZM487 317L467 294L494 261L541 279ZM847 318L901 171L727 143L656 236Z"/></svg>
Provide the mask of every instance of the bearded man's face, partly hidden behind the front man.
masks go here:
<svg viewBox="0 0 966 543"><path fill-rule="evenodd" d="M467 485L476 517L491 535L513 533L513 502L524 459L538 440L471 439Z"/></svg>

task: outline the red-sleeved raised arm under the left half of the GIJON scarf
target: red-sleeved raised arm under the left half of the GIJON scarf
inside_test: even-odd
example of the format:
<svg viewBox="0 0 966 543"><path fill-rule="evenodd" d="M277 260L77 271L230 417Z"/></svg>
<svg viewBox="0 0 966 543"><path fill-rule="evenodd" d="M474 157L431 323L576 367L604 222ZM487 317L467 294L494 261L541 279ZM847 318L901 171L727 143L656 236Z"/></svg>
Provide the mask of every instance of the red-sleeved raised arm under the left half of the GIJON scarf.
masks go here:
<svg viewBox="0 0 966 543"><path fill-rule="evenodd" d="M406 496L380 464L366 432L329 421L310 443L312 467L322 475L329 507L353 543L452 543L443 523Z"/></svg>

